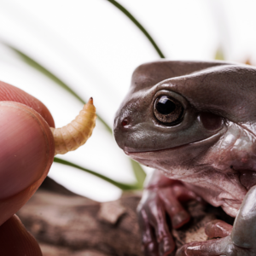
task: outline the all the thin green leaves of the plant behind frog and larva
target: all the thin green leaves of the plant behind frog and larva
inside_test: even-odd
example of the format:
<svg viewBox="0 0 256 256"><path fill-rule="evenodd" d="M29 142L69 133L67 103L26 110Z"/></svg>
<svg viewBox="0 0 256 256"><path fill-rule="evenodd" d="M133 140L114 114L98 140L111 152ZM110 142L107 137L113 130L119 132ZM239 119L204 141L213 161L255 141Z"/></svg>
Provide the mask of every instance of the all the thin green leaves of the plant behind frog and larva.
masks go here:
<svg viewBox="0 0 256 256"><path fill-rule="evenodd" d="M146 29L137 21L137 19L135 19L135 17L133 15L131 15L131 13L127 9L125 9L122 5L120 5L116 1L113 1L113 0L107 0L107 1L109 3L112 3L116 8L118 8L120 11L122 11L143 32L143 34L146 36L146 38L148 38L149 42L153 45L154 49L160 55L160 58L165 58L165 56L161 52L158 45L154 42L154 39L149 35L149 33L146 31ZM75 98L77 98L79 102L85 104L85 101L83 100L82 97L80 97L77 93L75 93L71 89L70 86L65 84L61 79L57 78L55 76L55 74L51 73L47 68L40 65L37 61L32 60L32 58L30 56L26 55L24 52L21 52L19 49L16 49L15 47L13 47L9 44L6 44L6 45L10 49L13 49L15 51L15 53L18 54L20 56L20 58L26 62L26 64L37 69L40 73L43 73L49 79L53 80L56 85L61 86L64 90L67 90L71 95L73 95ZM102 122L102 124L105 126L107 131L112 133L112 129L109 127L109 125L104 121L104 119L102 119L102 117L98 113L97 113L97 118L99 121ZM65 166L72 166L72 167L82 170L84 172L89 172L90 174L95 175L96 177L102 178L103 180L107 181L108 183L112 183L113 185L115 185L116 187L118 187L119 189L122 189L122 190L143 189L143 182L146 177L146 174L143 171L143 168L134 160L131 160L131 167L132 167L134 175L137 179L137 183L133 183L133 184L119 183L119 182L114 181L113 179L106 177L98 172L91 171L89 169L86 169L82 166L76 165L67 160L62 160L62 159L55 157L54 161L56 163L59 163L59 164L65 165Z"/></svg>

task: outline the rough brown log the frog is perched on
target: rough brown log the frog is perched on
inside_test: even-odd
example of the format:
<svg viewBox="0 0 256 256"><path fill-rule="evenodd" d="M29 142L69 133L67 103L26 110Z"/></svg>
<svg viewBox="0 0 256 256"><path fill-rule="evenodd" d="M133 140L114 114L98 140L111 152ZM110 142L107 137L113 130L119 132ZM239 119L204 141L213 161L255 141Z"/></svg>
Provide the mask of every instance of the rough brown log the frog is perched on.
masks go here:
<svg viewBox="0 0 256 256"><path fill-rule="evenodd" d="M48 177L17 215L38 240L44 256L141 256L136 213L140 198L140 193L132 193L99 203L73 194ZM227 218L221 210L195 201L186 207L192 220L172 230L177 247L207 240L204 225L214 218Z"/></svg>

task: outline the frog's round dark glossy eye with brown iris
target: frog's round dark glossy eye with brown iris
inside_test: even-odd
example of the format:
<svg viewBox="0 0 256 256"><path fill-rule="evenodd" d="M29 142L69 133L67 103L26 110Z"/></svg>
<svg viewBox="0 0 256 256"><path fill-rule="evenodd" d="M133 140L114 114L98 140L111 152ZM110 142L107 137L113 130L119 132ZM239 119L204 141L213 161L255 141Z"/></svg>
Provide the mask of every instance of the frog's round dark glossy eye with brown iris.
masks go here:
<svg viewBox="0 0 256 256"><path fill-rule="evenodd" d="M166 125L177 125L183 117L183 105L171 96L160 96L154 102L154 116Z"/></svg>

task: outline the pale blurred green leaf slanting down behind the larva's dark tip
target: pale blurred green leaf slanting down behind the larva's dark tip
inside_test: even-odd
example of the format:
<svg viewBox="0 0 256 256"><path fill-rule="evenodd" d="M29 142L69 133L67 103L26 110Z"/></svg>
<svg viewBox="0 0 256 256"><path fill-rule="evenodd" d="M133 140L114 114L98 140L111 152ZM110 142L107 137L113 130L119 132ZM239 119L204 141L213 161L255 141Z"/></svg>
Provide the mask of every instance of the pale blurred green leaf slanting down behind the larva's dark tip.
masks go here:
<svg viewBox="0 0 256 256"><path fill-rule="evenodd" d="M67 84L65 84L63 81L61 81L61 79L58 79L53 73L49 72L49 70L47 70L45 67L40 65L37 61L32 60L31 57L29 57L25 53L21 52L19 49L15 49L15 47L12 47L8 44L6 44L6 45L10 49L13 49L15 51L15 53L20 55L21 59L23 61L25 61L29 66L34 67L40 73L44 73L44 75L47 76L49 79L53 80L56 84L60 85L63 89L67 90L69 93L71 93L73 96L75 96L79 100L79 102L82 102L83 104L85 104L84 100L79 95L77 95ZM112 133L112 130L109 127L109 125L99 116L98 113L97 113L97 118L102 122L102 124L106 127L106 129Z"/></svg>

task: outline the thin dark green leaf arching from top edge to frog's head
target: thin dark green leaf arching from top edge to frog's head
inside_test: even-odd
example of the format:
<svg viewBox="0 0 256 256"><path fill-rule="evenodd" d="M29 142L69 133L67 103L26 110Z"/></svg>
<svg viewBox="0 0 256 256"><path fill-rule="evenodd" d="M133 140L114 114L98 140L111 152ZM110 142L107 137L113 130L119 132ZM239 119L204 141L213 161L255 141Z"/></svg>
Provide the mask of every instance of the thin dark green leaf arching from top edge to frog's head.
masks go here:
<svg viewBox="0 0 256 256"><path fill-rule="evenodd" d="M121 12L123 12L140 30L143 34L148 38L149 42L153 45L154 49L160 55L160 58L165 58L162 51L160 50L159 46L154 42L154 39L149 35L146 29L135 19L131 13L125 9L120 3L117 3L114 0L107 0L109 3L112 3L116 8L118 8Z"/></svg>

